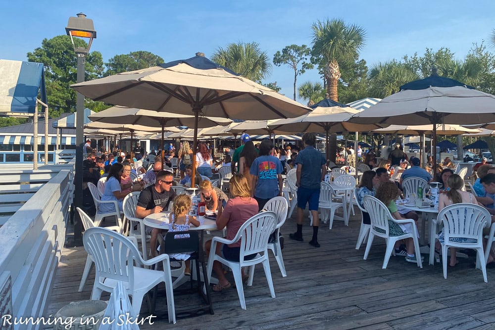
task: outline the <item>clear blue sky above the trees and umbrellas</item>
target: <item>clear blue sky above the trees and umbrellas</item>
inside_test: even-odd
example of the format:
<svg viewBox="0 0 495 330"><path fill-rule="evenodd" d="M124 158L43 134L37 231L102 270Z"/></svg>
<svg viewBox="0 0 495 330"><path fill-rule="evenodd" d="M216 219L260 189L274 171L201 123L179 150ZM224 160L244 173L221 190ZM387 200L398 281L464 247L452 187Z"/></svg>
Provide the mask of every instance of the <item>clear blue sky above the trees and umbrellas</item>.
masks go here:
<svg viewBox="0 0 495 330"><path fill-rule="evenodd" d="M95 23L98 38L91 50L100 51L104 61L135 50L151 51L165 61L197 51L211 57L218 47L240 41L257 42L272 59L285 46L310 46L316 20L342 18L367 31L360 57L370 67L423 54L426 47L448 47L462 59L473 43L488 41L495 28L493 0L4 1L0 58L26 60L44 38L65 34L68 17L81 11ZM288 66L273 66L265 82L276 81L281 93L292 97L293 75ZM298 77L297 85L319 79L316 69L310 70Z"/></svg>

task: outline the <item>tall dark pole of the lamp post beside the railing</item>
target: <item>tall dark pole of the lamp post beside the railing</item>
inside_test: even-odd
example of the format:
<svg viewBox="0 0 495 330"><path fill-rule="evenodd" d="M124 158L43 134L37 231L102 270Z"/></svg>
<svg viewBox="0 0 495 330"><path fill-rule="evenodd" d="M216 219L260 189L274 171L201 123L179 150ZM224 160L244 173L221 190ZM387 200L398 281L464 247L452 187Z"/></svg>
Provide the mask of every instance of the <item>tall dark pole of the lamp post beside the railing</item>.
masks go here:
<svg viewBox="0 0 495 330"><path fill-rule="evenodd" d="M86 55L77 54L77 82L84 82ZM83 206L83 146L84 146L84 96L77 93L76 101L76 173L74 174L74 207ZM83 226L79 212L74 212L74 242L73 246L83 245Z"/></svg>

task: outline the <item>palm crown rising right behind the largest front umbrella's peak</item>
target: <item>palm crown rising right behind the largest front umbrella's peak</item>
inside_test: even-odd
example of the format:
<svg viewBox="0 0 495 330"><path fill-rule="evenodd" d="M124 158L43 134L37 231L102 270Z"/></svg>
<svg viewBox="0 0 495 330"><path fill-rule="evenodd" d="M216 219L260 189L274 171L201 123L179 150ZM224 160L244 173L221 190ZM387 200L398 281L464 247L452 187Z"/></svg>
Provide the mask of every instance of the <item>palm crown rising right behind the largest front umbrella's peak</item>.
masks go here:
<svg viewBox="0 0 495 330"><path fill-rule="evenodd" d="M266 51L261 51L259 45L254 42L229 44L225 49L219 47L211 60L258 83L271 72L271 63Z"/></svg>

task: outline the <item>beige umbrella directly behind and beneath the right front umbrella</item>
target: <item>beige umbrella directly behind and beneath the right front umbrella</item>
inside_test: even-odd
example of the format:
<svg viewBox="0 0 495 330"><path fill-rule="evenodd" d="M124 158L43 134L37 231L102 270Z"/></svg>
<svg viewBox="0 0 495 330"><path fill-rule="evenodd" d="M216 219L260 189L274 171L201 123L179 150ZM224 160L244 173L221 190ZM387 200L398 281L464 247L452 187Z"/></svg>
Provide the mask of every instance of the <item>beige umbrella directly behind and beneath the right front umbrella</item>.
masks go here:
<svg viewBox="0 0 495 330"><path fill-rule="evenodd" d="M449 124L435 124L437 128L437 134L440 135L462 135L464 133L479 133L480 130L469 129L460 125ZM433 124L429 125L390 125L386 128L373 130L373 133L381 134L402 134L402 135L419 135L420 137L420 153L419 159L423 161L423 152L425 148L425 135L433 135Z"/></svg>

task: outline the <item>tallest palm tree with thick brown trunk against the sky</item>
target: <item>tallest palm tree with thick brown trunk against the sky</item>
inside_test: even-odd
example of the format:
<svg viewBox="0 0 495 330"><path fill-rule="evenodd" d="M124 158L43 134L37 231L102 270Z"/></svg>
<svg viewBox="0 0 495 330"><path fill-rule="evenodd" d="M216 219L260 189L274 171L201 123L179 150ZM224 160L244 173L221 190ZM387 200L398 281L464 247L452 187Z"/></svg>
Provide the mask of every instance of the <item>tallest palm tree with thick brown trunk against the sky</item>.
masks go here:
<svg viewBox="0 0 495 330"><path fill-rule="evenodd" d="M327 93L338 101L339 62L353 60L364 46L366 31L357 25L346 25L341 19L313 23L313 56L323 59Z"/></svg>

